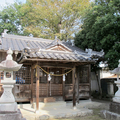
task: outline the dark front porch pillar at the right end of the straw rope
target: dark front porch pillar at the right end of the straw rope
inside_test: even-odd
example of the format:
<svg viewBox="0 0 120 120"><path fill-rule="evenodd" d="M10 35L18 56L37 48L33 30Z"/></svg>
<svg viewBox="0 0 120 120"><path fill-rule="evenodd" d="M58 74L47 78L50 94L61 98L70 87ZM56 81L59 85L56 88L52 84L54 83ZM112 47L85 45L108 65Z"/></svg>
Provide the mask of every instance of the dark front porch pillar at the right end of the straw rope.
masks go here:
<svg viewBox="0 0 120 120"><path fill-rule="evenodd" d="M72 71L72 81L73 81L73 109L76 109L76 100L75 100L75 67Z"/></svg>

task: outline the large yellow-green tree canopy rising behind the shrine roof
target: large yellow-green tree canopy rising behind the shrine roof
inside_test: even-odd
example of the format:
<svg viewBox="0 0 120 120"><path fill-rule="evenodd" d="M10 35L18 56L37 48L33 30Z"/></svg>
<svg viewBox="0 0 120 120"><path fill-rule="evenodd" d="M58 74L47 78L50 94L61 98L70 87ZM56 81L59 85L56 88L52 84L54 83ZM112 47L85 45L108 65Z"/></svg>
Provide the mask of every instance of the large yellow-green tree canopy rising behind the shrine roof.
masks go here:
<svg viewBox="0 0 120 120"><path fill-rule="evenodd" d="M9 10L14 11L13 21L15 24L20 23L24 35L49 39L58 36L61 40L68 40L80 29L82 13L89 4L89 0L26 0L25 4L14 4L16 10L9 7L4 10L8 10L8 16L12 14ZM3 14L0 16L4 18ZM12 22L12 18L9 19ZM4 28L18 31L14 23L11 23L11 28L13 26L15 30L9 29L7 25Z"/></svg>

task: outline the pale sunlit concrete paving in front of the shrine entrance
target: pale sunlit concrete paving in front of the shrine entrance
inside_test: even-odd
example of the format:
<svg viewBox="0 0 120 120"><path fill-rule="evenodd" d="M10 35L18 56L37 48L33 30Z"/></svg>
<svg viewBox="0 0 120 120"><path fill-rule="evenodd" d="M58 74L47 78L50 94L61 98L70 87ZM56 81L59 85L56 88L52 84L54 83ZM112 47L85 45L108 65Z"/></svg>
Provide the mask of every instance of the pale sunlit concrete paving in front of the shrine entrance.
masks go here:
<svg viewBox="0 0 120 120"><path fill-rule="evenodd" d="M40 103L40 110L35 113L35 109L30 104L19 104L22 115L27 120L47 120L70 118L76 116L86 116L93 113L89 108L107 107L108 104L101 102L92 102L91 100L80 100L77 109L73 109L72 102Z"/></svg>

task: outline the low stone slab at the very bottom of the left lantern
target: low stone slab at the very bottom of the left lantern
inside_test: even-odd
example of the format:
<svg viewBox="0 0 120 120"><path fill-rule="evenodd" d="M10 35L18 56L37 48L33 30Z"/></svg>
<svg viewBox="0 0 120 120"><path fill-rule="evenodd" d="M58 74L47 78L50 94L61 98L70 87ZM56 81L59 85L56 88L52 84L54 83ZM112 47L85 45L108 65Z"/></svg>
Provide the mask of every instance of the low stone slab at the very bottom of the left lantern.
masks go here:
<svg viewBox="0 0 120 120"><path fill-rule="evenodd" d="M20 110L18 109L17 112L14 113L0 113L0 120L26 120L22 117Z"/></svg>

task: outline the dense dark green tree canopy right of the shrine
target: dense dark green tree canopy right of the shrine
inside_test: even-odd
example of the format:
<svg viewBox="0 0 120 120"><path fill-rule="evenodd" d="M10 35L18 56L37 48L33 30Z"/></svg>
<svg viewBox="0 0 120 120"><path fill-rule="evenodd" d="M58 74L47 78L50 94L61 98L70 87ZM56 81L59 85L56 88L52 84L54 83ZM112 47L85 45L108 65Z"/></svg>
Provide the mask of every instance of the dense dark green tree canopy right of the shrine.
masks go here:
<svg viewBox="0 0 120 120"><path fill-rule="evenodd" d="M120 0L96 0L82 20L75 44L83 49L103 49L109 69L117 67L120 59Z"/></svg>

